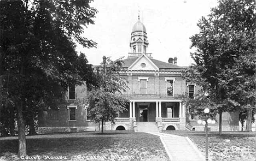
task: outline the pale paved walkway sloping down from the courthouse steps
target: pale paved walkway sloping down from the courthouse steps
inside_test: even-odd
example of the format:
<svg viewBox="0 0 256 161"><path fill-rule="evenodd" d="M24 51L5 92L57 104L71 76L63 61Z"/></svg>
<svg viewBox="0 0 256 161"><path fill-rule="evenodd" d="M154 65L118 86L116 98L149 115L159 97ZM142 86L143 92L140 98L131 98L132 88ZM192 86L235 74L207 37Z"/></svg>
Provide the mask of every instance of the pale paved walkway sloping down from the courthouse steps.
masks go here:
<svg viewBox="0 0 256 161"><path fill-rule="evenodd" d="M203 161L205 157L188 137L165 133L149 133L160 136L171 161Z"/></svg>

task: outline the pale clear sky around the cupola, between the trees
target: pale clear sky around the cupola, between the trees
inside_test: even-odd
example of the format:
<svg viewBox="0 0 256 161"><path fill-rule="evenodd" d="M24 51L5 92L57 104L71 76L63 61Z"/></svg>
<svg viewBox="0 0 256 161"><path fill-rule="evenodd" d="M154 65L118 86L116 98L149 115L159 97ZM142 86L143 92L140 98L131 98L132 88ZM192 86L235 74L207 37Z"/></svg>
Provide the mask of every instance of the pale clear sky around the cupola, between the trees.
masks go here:
<svg viewBox="0 0 256 161"><path fill-rule="evenodd" d="M103 56L127 58L132 27L140 14L147 29L147 52L163 62L176 56L177 65L188 66L193 63L190 52L194 51L189 38L199 33L197 22L217 4L217 0L95 0L91 3L98 10L95 25L85 28L83 36L96 41L97 47L78 45L77 51L84 52L94 65L100 64Z"/></svg>

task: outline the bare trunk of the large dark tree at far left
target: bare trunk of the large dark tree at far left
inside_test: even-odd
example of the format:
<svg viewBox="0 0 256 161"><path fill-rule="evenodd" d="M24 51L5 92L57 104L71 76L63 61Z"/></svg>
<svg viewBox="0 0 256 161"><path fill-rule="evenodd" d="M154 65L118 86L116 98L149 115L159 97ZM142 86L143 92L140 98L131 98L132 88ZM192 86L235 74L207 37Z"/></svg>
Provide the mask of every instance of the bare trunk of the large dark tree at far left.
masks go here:
<svg viewBox="0 0 256 161"><path fill-rule="evenodd" d="M22 101L22 100L21 100ZM19 140L19 152L18 157L27 156L26 148L26 135L25 135L25 122L23 118L23 104L21 102L20 106L17 106L18 115L18 140Z"/></svg>

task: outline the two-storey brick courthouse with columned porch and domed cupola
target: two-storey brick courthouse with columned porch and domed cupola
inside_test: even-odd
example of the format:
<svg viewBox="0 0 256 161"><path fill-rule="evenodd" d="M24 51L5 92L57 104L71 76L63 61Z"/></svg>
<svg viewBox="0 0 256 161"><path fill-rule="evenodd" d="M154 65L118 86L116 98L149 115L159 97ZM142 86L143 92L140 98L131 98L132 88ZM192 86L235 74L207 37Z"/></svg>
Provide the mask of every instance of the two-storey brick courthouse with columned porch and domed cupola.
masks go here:
<svg viewBox="0 0 256 161"><path fill-rule="evenodd" d="M154 59L154 55L160 53L148 51L149 40L146 27L138 19L131 32L131 51L124 59L121 71L121 76L129 81L129 89L121 95L129 100L129 106L115 123L106 122L105 129L135 132L204 130L204 126L196 122L198 117L189 114L189 105L182 99L185 94L194 97L200 87L183 79L185 68L177 65L177 57L166 62ZM99 125L87 117L87 106L75 104L75 100L85 95L85 86L69 87L66 94L68 103L57 110L40 112L39 133L98 130ZM222 117L223 130L238 130L237 114L226 112ZM211 130L218 130L218 116L216 121L210 126Z"/></svg>

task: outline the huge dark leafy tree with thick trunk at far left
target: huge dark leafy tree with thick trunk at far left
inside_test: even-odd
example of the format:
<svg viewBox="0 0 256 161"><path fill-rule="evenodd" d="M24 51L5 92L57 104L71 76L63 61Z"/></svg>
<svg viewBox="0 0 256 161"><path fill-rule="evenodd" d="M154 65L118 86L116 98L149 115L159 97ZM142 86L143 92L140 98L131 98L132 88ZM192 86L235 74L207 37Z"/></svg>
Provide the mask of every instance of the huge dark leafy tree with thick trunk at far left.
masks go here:
<svg viewBox="0 0 256 161"><path fill-rule="evenodd" d="M26 114L61 100L68 84L84 81L74 41L96 46L81 36L83 26L93 24L97 13L90 2L0 1L1 113L12 106L16 111L18 157L27 155Z"/></svg>

